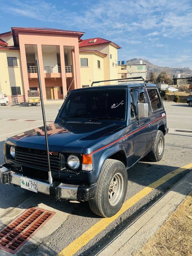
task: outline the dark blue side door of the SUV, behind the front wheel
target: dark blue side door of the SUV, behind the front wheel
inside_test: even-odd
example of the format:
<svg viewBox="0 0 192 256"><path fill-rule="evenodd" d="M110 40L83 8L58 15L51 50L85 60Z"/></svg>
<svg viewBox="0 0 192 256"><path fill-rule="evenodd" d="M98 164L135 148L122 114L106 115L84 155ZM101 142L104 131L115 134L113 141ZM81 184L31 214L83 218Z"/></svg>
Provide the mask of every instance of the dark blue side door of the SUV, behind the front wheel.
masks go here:
<svg viewBox="0 0 192 256"><path fill-rule="evenodd" d="M142 158L152 144L151 118L137 118L137 104L147 103L143 89L132 90L131 95L131 125L133 132L134 162Z"/></svg>

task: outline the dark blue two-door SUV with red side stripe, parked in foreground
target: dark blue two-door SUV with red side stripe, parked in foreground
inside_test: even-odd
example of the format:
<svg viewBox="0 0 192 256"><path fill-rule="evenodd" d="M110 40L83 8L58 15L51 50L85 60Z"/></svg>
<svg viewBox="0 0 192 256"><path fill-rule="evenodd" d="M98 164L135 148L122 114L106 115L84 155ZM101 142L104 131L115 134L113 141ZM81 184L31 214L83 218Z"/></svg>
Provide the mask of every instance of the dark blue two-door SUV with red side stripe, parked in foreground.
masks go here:
<svg viewBox="0 0 192 256"><path fill-rule="evenodd" d="M144 156L160 161L167 132L155 84L72 90L55 122L47 125L53 183L48 182L44 127L5 141L1 181L53 200L89 201L94 213L110 217L124 202L127 170Z"/></svg>

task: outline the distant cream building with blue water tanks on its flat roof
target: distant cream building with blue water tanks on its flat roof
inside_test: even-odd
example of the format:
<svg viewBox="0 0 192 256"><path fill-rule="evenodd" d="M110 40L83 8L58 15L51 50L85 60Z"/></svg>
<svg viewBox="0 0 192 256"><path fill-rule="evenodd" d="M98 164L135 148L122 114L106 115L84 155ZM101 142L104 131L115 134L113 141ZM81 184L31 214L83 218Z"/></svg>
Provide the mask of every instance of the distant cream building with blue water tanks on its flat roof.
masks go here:
<svg viewBox="0 0 192 256"><path fill-rule="evenodd" d="M118 65L118 78L142 76L144 79L146 79L146 74L147 74L146 64Z"/></svg>

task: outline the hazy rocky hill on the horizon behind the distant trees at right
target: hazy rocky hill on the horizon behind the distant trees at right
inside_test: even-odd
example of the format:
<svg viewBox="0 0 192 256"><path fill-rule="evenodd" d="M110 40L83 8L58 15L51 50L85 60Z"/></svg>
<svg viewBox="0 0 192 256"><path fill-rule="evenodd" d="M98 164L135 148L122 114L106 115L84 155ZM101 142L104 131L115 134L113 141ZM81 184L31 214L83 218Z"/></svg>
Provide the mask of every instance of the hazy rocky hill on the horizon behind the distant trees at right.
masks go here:
<svg viewBox="0 0 192 256"><path fill-rule="evenodd" d="M134 58L132 60L127 60L126 64L139 64L139 60L143 61L143 64L147 65L147 77L149 76L149 73L154 71L157 75L161 73L162 71L166 71L167 74L170 74L170 77L172 78L173 75L181 74L181 77L188 77L192 76L192 70L190 68L169 68L169 67L159 67L148 60L144 59L137 59Z"/></svg>

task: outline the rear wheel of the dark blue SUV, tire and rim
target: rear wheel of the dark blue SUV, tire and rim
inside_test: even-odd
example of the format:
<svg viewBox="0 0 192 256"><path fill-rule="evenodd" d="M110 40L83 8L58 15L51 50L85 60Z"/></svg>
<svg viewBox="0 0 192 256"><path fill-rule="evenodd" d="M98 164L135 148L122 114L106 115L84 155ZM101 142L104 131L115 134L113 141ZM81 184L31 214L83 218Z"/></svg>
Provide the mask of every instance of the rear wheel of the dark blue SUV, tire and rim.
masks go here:
<svg viewBox="0 0 192 256"><path fill-rule="evenodd" d="M148 153L148 159L152 162L158 162L162 159L164 153L164 134L162 131L157 131L155 143L152 150Z"/></svg>

